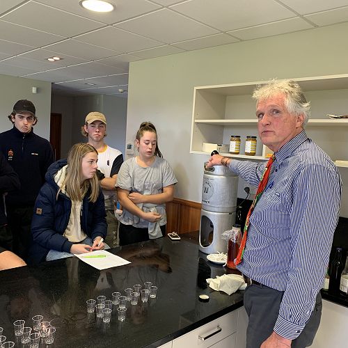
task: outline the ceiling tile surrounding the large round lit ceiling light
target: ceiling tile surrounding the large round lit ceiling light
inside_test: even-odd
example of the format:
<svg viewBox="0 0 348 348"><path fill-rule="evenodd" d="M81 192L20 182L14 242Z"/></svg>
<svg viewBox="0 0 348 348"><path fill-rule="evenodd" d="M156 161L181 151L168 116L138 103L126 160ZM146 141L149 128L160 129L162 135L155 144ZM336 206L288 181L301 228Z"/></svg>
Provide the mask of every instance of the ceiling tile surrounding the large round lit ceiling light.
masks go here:
<svg viewBox="0 0 348 348"><path fill-rule="evenodd" d="M79 5L79 1L72 0L37 0L40 3L46 3L54 8L60 8L61 10L80 15L82 17L95 19L98 22L113 24L122 20L143 15L152 10L160 8L159 5L146 0L108 0L116 9L109 13L97 13L86 10Z"/></svg>

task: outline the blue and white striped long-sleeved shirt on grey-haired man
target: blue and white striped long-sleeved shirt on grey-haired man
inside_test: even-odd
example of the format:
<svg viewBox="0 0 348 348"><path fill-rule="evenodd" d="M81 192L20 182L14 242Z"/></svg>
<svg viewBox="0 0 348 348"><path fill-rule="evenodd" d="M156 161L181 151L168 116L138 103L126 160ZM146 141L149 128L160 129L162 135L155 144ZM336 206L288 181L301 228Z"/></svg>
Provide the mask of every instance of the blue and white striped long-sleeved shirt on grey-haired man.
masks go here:
<svg viewBox="0 0 348 348"><path fill-rule="evenodd" d="M269 182L250 217L239 271L284 292L274 331L295 339L322 288L338 223L338 169L306 132L276 152ZM265 163L230 161L230 170L258 187Z"/></svg>

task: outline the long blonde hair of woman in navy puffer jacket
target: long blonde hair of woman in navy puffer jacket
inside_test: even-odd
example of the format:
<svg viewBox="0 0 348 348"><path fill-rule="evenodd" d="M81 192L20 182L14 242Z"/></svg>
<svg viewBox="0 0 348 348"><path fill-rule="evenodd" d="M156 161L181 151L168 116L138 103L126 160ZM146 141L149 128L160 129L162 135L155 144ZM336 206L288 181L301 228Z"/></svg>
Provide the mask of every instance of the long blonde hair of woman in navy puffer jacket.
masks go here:
<svg viewBox="0 0 348 348"><path fill-rule="evenodd" d="M95 152L98 155L97 150L90 144L77 143L72 146L68 155L68 168L65 179L59 191L65 186L65 191L71 200L81 201L90 188L89 201L94 203L99 196L100 190L97 175L93 175L91 179L82 179L82 159L88 152Z"/></svg>

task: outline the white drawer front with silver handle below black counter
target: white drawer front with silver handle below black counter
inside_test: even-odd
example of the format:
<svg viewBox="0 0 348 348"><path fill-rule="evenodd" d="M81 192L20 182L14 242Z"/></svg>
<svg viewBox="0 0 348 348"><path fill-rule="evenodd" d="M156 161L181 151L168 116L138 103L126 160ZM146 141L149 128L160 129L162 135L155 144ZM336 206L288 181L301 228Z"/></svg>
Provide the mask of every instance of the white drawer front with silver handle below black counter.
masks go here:
<svg viewBox="0 0 348 348"><path fill-rule="evenodd" d="M238 313L237 310L235 310L234 312L223 315L222 317L200 326L200 328L182 335L179 338L175 338L172 347L208 348L228 336L231 336L232 338L232 342L229 342L230 345L228 347L235 347L235 335L232 335L232 333L237 331L237 319Z"/></svg>

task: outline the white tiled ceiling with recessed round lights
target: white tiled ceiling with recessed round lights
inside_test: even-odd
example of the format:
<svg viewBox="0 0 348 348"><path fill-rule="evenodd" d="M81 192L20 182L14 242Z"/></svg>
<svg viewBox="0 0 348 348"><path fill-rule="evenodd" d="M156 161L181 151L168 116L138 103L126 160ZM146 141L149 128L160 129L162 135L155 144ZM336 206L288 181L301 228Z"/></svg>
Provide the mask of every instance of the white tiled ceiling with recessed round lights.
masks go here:
<svg viewBox="0 0 348 348"><path fill-rule="evenodd" d="M100 14L79 0L1 0L0 74L127 97L129 62L348 21L348 0L109 2Z"/></svg>

